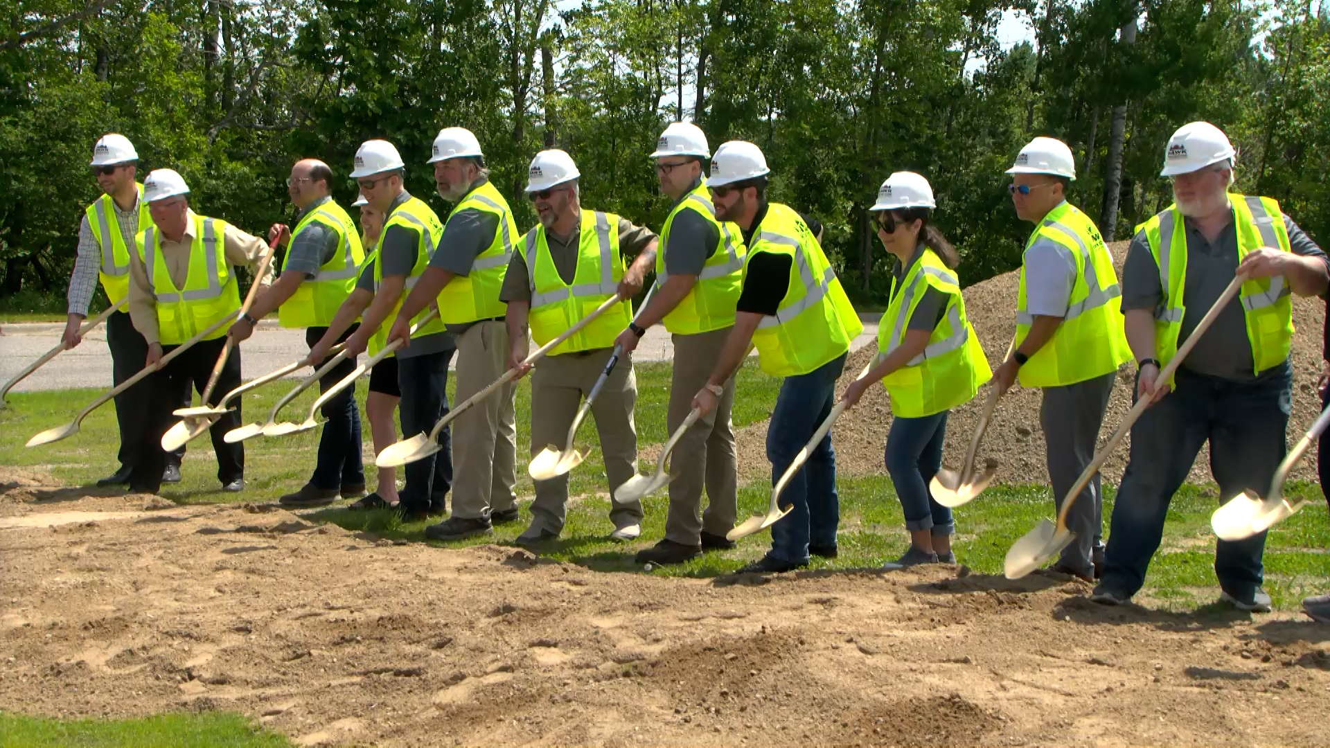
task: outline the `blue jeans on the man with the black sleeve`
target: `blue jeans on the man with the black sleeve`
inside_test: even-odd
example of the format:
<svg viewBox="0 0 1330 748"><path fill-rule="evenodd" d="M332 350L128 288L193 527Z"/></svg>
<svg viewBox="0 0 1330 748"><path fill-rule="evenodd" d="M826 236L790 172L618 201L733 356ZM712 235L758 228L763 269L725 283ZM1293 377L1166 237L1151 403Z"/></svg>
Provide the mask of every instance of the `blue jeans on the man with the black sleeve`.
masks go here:
<svg viewBox="0 0 1330 748"><path fill-rule="evenodd" d="M835 381L845 369L845 358L846 354L841 354L807 374L786 377L781 383L771 425L766 430L766 459L771 462L773 486L831 414ZM771 526L771 550L767 555L791 563L806 563L809 542L819 547L835 547L841 500L835 492L835 450L831 449L830 431L813 447L803 467L785 484L779 503L794 507Z"/></svg>

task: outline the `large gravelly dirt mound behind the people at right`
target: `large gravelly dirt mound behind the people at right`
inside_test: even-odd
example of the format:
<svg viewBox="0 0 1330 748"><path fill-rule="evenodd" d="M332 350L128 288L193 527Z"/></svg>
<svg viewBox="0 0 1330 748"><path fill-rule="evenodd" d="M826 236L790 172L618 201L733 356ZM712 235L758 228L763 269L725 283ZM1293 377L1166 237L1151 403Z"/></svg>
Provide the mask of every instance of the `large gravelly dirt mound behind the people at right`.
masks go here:
<svg viewBox="0 0 1330 748"><path fill-rule="evenodd" d="M1109 245L1117 265L1119 276L1127 258L1128 242ZM1019 273L1005 273L975 283L964 290L966 311L979 334L990 363L996 367L1007 353L1007 345L1016 334L1016 291ZM1317 378L1321 374L1321 330L1325 325L1325 303L1315 298L1293 298L1293 321L1297 334L1293 339L1293 415L1289 419L1289 441L1297 441L1321 414L1321 401L1315 394ZM859 374L876 354L876 346L870 345L853 354L846 362L838 390ZM1132 387L1134 365L1124 365L1117 373L1117 386L1108 405L1100 443L1105 443L1117 423L1132 407ZM970 439L979 423L988 390L968 403L952 409L947 421L947 446L944 465L959 468L964 461ZM980 465L984 459L999 463L998 480L1003 483L1048 483L1044 457L1044 433L1039 425L1039 390L1012 387L999 401L988 433L979 449ZM863 401L837 422L833 441L837 453L837 468L849 474L884 472L882 451L891 430L891 406L883 387L872 387ZM770 467L765 459L766 425L754 425L739 435L739 470L747 476L766 474ZM1104 475L1115 484L1127 467L1130 437L1123 439L1117 450L1104 465ZM1190 482L1210 482L1209 447L1201 450L1192 467ZM1297 470L1294 478L1315 480L1317 459L1311 450Z"/></svg>

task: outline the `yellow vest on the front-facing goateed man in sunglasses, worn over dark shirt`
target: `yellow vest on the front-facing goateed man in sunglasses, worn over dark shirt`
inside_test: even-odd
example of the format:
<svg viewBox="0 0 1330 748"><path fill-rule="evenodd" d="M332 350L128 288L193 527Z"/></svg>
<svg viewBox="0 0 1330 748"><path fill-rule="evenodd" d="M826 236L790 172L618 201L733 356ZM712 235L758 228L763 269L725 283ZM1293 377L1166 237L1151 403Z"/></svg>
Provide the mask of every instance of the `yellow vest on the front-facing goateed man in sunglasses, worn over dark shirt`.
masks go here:
<svg viewBox="0 0 1330 748"><path fill-rule="evenodd" d="M527 232L523 256L531 278L528 322L531 337L539 346L557 338L618 293L618 282L626 269L618 253L618 216L598 210L581 212L577 272L572 285L565 283L555 268L544 225ZM632 302L616 303L549 354L610 347L632 318Z"/></svg>

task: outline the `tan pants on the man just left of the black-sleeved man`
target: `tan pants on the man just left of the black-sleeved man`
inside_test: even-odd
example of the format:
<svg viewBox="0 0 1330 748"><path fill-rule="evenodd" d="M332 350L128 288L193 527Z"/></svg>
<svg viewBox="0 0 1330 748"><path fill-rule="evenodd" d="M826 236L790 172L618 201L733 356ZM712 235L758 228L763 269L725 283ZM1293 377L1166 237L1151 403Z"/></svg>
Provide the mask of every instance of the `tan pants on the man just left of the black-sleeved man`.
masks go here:
<svg viewBox="0 0 1330 748"><path fill-rule="evenodd" d="M674 433L693 409L693 397L706 385L716 369L721 349L732 327L673 335L674 375L669 394L669 431ZM670 454L669 462L669 515L665 519L665 539L684 546L698 546L701 532L724 536L734 528L738 514L738 465L734 453L734 426L730 409L734 405L734 378L725 382L716 410L698 418ZM702 488L709 499L702 508Z"/></svg>

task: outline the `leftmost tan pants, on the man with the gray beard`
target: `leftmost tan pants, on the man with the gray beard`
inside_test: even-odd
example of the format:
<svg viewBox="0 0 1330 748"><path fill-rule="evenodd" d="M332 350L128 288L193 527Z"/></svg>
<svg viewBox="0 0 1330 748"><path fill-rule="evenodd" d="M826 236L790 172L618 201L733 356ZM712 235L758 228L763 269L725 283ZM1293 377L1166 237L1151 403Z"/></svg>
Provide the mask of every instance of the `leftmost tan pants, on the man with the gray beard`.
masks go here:
<svg viewBox="0 0 1330 748"><path fill-rule="evenodd" d="M458 335L460 403L503 375L508 326L477 322ZM517 383L508 382L452 421L452 516L488 518L517 502Z"/></svg>

